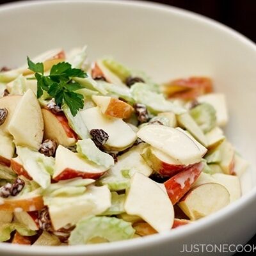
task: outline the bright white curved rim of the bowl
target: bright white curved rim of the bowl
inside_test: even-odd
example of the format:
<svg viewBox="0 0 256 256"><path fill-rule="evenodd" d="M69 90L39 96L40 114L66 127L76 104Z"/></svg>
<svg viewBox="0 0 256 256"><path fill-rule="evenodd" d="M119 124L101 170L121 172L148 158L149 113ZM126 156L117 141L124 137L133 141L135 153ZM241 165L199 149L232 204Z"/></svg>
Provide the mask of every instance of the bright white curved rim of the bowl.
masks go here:
<svg viewBox="0 0 256 256"><path fill-rule="evenodd" d="M113 4L115 6L128 6L135 8L144 8L148 10L156 10L158 12L167 12L171 15L179 15L180 17L184 17L184 19L191 19L194 21L202 22L205 26L208 26L212 29L218 29L223 33L226 33L229 36L236 38L239 42L250 47L252 51L256 52L256 44L252 42L249 38L242 35L241 33L235 31L220 22L205 17L204 15L200 15L197 13L190 12L188 10L183 10L181 8L177 8L174 6L168 6L167 4L160 3L152 3L148 1L135 1L135 0L38 0L38 1L20 1L13 3L6 3L0 6L0 15L3 12L9 12L12 10L22 9L29 6L42 6L42 5L56 5L56 4ZM147 248L147 246L157 246L159 243L164 243L170 240L177 240L182 238L184 235L191 235L194 232L199 230L203 230L204 228L211 227L213 223L217 223L218 221L223 221L228 219L228 216L232 213L236 213L243 209L246 205L253 202L256 198L256 186L254 186L251 191L243 195L239 200L233 202L227 207L221 209L210 216L202 218L200 220L195 221L195 223L191 223L190 225L184 225L180 228L172 230L172 232L165 232L163 234L154 234L151 236L143 237L143 239L131 239L124 241L116 241L111 243L103 243L103 244L86 244L86 245L76 245L76 246L26 246L19 244L8 244L8 243L0 243L0 252L6 253L19 253L19 255L35 255L39 253L40 255L70 255L74 253L76 255L99 255L99 253L106 252L132 252L137 249ZM86 250L85 250L86 249Z"/></svg>

